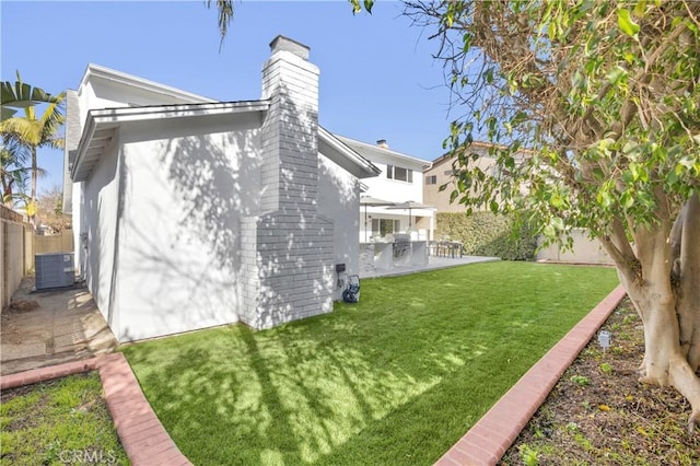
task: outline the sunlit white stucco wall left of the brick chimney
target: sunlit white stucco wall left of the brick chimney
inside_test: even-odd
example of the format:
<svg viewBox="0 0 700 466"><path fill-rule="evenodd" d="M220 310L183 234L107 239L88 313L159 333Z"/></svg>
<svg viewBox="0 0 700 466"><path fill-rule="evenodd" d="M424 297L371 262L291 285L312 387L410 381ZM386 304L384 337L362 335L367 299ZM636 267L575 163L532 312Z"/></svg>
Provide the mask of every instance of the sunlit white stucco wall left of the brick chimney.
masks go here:
<svg viewBox="0 0 700 466"><path fill-rule="evenodd" d="M129 324L117 337L235 323L241 219L259 202L257 130L155 141L140 141L141 131L153 128L135 128L122 138L127 183L117 306Z"/></svg>

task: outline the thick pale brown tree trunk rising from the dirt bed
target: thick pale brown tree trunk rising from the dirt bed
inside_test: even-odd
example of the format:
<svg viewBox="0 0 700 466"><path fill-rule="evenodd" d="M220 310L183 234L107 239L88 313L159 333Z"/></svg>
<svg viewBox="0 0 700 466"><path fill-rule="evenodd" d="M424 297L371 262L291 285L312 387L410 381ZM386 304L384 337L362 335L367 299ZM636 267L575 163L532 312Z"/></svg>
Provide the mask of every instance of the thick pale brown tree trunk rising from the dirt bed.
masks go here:
<svg viewBox="0 0 700 466"><path fill-rule="evenodd" d="M688 207L692 202L696 203L692 209L697 212ZM681 215L682 226L688 226L690 221L688 229L692 230L687 237L682 237L681 242L686 244L679 248L688 253L679 254L681 261L691 263L680 265L679 269L685 275L676 276L677 272L674 272L676 261L673 244L668 241L669 229L641 229L635 232L635 255L641 266L637 273L631 271L629 264L616 259L620 281L644 324L644 360L640 366L640 381L661 386L672 385L688 399L691 406L689 433L700 426L700 377L696 374L696 358L700 347L700 304L691 301L700 283L697 275L700 269L697 267L700 242L697 241L699 233L695 229L698 212L700 205L697 195L693 195ZM682 231L687 232L688 229L684 228ZM609 242L604 242L604 245L611 247ZM680 307L684 308L682 313L679 312Z"/></svg>

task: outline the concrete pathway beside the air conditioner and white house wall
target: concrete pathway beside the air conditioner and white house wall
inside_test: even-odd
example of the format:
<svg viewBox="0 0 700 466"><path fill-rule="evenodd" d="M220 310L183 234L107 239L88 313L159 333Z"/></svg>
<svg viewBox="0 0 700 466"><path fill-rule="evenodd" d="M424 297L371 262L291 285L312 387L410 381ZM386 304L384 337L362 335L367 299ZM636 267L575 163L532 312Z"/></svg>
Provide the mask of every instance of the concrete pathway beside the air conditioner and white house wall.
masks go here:
<svg viewBox="0 0 700 466"><path fill-rule="evenodd" d="M32 291L22 280L0 314L0 374L112 352L117 340L84 287Z"/></svg>

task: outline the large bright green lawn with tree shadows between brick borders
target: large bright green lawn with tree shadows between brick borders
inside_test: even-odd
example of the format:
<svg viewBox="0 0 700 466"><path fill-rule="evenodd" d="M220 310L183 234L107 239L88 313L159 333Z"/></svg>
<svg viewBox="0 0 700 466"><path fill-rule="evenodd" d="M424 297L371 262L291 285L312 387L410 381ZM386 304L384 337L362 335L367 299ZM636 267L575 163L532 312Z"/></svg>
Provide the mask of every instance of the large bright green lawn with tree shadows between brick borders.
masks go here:
<svg viewBox="0 0 700 466"><path fill-rule="evenodd" d="M362 281L360 303L124 349L196 465L432 464L617 284L489 263Z"/></svg>

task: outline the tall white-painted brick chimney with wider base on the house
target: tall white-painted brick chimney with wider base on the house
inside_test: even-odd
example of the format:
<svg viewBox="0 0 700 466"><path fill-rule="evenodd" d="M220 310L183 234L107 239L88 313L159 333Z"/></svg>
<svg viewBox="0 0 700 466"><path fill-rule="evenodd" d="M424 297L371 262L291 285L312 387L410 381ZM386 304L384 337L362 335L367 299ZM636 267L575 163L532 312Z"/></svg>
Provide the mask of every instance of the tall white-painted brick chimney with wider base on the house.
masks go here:
<svg viewBox="0 0 700 466"><path fill-rule="evenodd" d="M262 67L260 213L242 222L241 319L255 328L332 310L334 224L318 214L318 68L284 36Z"/></svg>

